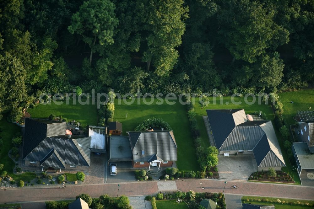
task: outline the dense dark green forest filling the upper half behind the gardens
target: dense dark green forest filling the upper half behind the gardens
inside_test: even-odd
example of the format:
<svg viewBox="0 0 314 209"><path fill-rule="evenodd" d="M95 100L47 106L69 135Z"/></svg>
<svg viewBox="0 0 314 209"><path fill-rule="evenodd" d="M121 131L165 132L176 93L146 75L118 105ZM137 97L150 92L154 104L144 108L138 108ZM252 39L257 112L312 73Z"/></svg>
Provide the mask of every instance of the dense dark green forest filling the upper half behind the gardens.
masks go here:
<svg viewBox="0 0 314 209"><path fill-rule="evenodd" d="M0 118L43 93L279 92L314 80L313 0L2 0Z"/></svg>

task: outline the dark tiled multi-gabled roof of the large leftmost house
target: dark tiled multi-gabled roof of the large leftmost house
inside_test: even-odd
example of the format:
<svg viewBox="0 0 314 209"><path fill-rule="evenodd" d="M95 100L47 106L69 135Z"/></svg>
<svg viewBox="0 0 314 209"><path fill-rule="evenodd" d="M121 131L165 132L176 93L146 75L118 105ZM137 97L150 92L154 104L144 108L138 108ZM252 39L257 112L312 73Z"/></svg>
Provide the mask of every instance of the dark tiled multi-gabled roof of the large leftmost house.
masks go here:
<svg viewBox="0 0 314 209"><path fill-rule="evenodd" d="M66 164L89 166L90 137L65 132L65 122L26 120L23 160L39 161L41 166L55 168L65 168Z"/></svg>

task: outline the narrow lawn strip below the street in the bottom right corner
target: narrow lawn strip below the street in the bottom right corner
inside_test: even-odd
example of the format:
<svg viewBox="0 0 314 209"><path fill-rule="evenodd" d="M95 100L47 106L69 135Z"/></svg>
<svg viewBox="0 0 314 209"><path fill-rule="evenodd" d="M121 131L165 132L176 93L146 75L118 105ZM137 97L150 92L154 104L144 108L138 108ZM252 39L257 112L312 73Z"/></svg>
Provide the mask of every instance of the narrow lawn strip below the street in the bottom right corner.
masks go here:
<svg viewBox="0 0 314 209"><path fill-rule="evenodd" d="M247 201L247 199L253 199L253 201ZM268 199L268 202L266 201L258 201L258 200L266 200ZM281 203L277 202L277 199L281 201ZM241 198L242 203L251 203L251 204L257 204L257 205L274 205L275 209L306 209L306 208L313 208L312 206L306 206L306 205L298 205L294 204L294 202L300 201L303 203L309 203L311 205L314 204L314 201L310 200L295 200L295 199L284 199L284 198L272 198L272 197L257 197L257 196L243 196ZM270 202L272 201L272 202ZM282 201L285 202L292 202L292 205L290 204L282 204ZM156 201L157 202L157 201Z"/></svg>

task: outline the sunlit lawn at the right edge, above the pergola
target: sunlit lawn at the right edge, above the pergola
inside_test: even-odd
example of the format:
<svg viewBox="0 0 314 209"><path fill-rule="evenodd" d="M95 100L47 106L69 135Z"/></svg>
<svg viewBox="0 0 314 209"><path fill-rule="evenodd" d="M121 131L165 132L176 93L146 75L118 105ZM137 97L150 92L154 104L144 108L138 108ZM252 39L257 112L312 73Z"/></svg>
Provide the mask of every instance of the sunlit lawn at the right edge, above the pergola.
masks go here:
<svg viewBox="0 0 314 209"><path fill-rule="evenodd" d="M279 100L284 105L284 119L288 125L294 124L296 121L293 116L297 114L298 110L314 110L314 89L282 92L279 93ZM290 101L293 101L291 103Z"/></svg>

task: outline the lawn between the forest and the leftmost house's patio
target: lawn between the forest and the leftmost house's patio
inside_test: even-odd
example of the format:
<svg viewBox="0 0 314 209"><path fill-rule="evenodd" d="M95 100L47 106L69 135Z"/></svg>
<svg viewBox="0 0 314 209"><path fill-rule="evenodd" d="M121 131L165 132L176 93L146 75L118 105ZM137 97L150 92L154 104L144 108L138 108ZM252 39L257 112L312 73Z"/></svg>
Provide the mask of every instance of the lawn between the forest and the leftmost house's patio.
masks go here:
<svg viewBox="0 0 314 209"><path fill-rule="evenodd" d="M56 116L66 118L67 121L80 121L83 128L87 125L97 125L98 115L96 103L95 105L92 105L91 102L89 105L80 105L77 100L76 104L73 105L73 99L69 99L69 105L66 104L66 100L63 102L62 105L56 105L53 102L51 102L50 105L38 105L27 111L33 118L48 118L49 115L53 113Z"/></svg>

